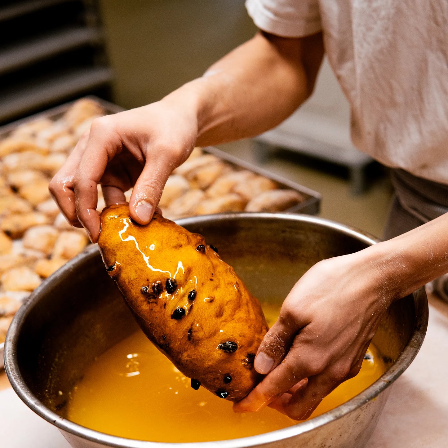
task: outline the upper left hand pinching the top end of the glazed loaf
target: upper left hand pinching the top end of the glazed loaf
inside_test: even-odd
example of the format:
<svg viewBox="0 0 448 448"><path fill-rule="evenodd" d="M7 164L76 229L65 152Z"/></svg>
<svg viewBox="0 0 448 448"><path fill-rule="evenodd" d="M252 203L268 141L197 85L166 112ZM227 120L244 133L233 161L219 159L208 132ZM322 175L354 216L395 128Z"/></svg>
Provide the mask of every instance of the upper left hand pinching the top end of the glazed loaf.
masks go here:
<svg viewBox="0 0 448 448"><path fill-rule="evenodd" d="M134 186L130 215L147 224L168 176L196 137L196 116L169 99L96 118L50 182L50 192L67 220L85 227L93 242L100 230L98 184L106 205L124 203L124 192Z"/></svg>

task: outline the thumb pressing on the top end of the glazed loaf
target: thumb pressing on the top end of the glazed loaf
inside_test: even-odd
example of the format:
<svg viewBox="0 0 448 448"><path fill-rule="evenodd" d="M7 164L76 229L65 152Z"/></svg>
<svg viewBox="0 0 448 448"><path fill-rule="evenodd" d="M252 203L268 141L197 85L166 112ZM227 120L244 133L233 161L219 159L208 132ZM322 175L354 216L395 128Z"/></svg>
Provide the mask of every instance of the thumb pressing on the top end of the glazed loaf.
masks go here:
<svg viewBox="0 0 448 448"><path fill-rule="evenodd" d="M172 167L163 160L146 159L142 173L135 182L129 199L131 218L139 224L148 224L159 204Z"/></svg>

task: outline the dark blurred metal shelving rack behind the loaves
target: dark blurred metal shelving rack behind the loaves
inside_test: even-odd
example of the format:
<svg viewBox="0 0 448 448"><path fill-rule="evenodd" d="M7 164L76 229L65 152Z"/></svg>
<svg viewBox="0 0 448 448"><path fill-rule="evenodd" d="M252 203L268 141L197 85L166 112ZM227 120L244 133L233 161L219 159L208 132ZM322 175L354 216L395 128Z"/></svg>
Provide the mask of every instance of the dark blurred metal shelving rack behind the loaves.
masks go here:
<svg viewBox="0 0 448 448"><path fill-rule="evenodd" d="M2 2L0 122L107 92L111 81L95 0Z"/></svg>

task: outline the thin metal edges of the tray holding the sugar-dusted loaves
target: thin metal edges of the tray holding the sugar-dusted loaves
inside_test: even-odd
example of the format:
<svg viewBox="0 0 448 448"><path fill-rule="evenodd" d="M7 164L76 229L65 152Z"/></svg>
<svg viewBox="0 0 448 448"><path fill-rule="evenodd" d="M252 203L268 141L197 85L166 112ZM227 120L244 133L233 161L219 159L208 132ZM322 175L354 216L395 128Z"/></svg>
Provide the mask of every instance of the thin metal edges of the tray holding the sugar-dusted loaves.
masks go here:
<svg viewBox="0 0 448 448"><path fill-rule="evenodd" d="M104 108L104 110L109 113L117 113L122 112L125 109L110 103L109 101L106 101L104 99L98 98L93 95L89 95L86 98L91 98L97 101L99 104L101 104ZM64 113L70 108L70 106L74 103L74 101L70 103L65 103L60 106L57 106L52 109L48 109L44 112L39 112L37 114L31 115L26 118L22 118L21 120L13 121L12 123L9 123L8 125L4 125L0 127L0 139L3 139L8 136L10 132L12 132L14 129L17 128L17 126L22 125L24 123L28 123L29 121L34 121L38 118L49 118L50 120L57 120L60 118ZM240 169L247 169L249 171L255 172L257 174L261 174L264 177L267 177L273 181L275 181L279 188L288 188L292 190L298 191L302 196L305 198L303 202L300 204L297 204L293 207L290 207L289 209L285 210L284 212L287 213L306 213L308 215L316 215L319 213L320 208L320 200L321 195L317 193L314 190L310 190L309 188L304 187L303 185L299 185L296 182L289 181L288 179L284 179L281 176L277 176L276 174L273 174L263 168L258 168L256 165L253 165L249 162L246 162L244 160L238 159L237 157L234 157L233 155L227 154L224 151L221 151L218 148L215 148L213 146L207 146L204 147L203 150L209 154L213 154L220 159L225 160L229 164L233 166L233 168L240 168ZM3 368L3 348L4 343L0 344L0 369Z"/></svg>

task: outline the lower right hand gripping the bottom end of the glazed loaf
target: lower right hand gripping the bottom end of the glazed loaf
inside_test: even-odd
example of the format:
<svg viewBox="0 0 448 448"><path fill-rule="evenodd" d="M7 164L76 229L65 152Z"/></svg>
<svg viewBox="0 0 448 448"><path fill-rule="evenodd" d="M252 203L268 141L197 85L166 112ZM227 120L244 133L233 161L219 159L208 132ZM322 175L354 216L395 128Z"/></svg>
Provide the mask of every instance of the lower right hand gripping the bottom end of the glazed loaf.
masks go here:
<svg viewBox="0 0 448 448"><path fill-rule="evenodd" d="M269 405L303 420L358 374L392 301L374 248L323 260L295 284L255 358L255 369L267 376L234 405L236 412Z"/></svg>

